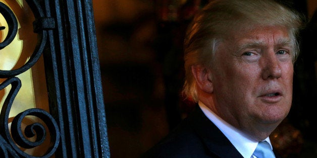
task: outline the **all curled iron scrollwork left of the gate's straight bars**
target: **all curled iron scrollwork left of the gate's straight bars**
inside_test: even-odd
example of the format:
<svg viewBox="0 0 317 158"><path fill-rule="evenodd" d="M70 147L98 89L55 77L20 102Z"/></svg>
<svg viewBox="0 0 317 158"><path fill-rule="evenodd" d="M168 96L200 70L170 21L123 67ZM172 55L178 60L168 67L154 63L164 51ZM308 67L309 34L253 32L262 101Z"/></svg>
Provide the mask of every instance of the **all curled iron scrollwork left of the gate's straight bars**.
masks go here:
<svg viewBox="0 0 317 158"><path fill-rule="evenodd" d="M33 11L35 22L39 23L38 25L44 26L45 18L44 14L37 2L26 1L30 8ZM3 42L0 43L0 50L8 46L14 39L18 31L18 23L14 13L11 9L5 4L0 2L0 13L4 16L5 20L8 23L8 35ZM51 20L51 19L49 19ZM47 21L46 21L47 22ZM51 24L50 24L51 25ZM4 27L0 27L0 30L7 29ZM7 78L6 81L0 84L0 91L4 90L6 87L11 85L10 92L8 96L5 98L5 102L1 109L0 113L0 157L50 157L55 153L59 141L60 141L60 130L55 119L45 110L33 108L28 109L24 112L19 113L16 117L14 117L11 128L9 129L9 113L13 106L13 101L18 94L21 88L21 81L16 75L23 73L24 71L30 69L36 61L41 56L41 53L44 49L47 33L45 28L36 28L34 32L38 33L39 42L34 49L34 52L30 56L29 60L22 65L21 67L13 70L0 70L0 78ZM41 156L33 156L25 153L20 147L29 149L39 146L43 143L46 138L46 128L41 123L33 123L27 125L24 128L24 132L22 128L22 120L26 116L35 116L42 120L50 134L50 144L51 146L47 149L46 153ZM11 130L11 132L10 132ZM30 138L36 135L35 141L30 141L26 137ZM20 146L20 147L19 147Z"/></svg>

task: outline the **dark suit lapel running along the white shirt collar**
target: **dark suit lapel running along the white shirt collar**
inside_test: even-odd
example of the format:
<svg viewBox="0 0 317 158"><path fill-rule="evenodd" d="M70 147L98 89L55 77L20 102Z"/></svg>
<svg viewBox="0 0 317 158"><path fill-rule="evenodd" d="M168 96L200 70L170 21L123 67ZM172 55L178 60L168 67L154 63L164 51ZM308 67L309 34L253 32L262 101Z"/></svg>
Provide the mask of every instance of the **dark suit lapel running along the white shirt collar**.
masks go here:
<svg viewBox="0 0 317 158"><path fill-rule="evenodd" d="M210 152L219 157L242 157L229 139L203 114L199 106L196 106L188 121Z"/></svg>

